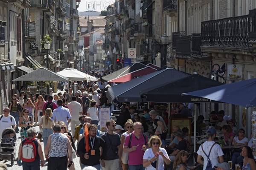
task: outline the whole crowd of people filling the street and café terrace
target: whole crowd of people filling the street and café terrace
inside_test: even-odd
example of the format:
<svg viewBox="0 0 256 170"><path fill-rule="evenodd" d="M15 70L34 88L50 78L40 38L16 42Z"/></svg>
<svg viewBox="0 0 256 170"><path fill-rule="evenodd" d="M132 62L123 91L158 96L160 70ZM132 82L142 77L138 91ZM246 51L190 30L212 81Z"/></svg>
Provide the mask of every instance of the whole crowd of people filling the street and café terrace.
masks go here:
<svg viewBox="0 0 256 170"><path fill-rule="evenodd" d="M143 108L143 114L137 114L134 106L123 103L120 105L122 113L116 121L108 120L108 131L102 133L98 127L98 107L111 106L111 100L105 93L110 85L103 85L101 79L78 84L79 91L73 92L65 82L64 94L39 95L36 98L29 95L26 102L22 89L20 96L12 96L8 107L4 108L0 118L0 137L7 127L20 133L23 140L17 164L22 164L23 170L39 170L46 161L48 170L75 170L73 159L76 156L80 159L81 169L144 170L146 167L147 170L164 170L172 167L174 170L230 170L230 166L235 169L240 162L244 170L256 168L252 155L253 137L248 141L244 137L244 129L237 131L235 122L225 116L224 111L210 114L211 127L206 131L208 140L197 150L196 161L202 167L188 166L188 157L193 151L189 129L174 126L167 136L170 127L164 106L161 114L148 108ZM172 116L192 120L191 107L183 103L173 105ZM201 135L206 127L204 116L198 116L195 122L196 132ZM195 122L192 121L192 131ZM37 125L42 134L43 148L32 128ZM69 125L71 131L68 131ZM228 153L223 152L215 140L217 131L222 132L224 144L240 147L232 151L230 160L227 160ZM24 144L29 142L36 148L33 161L23 154ZM225 161L232 161L232 165Z"/></svg>

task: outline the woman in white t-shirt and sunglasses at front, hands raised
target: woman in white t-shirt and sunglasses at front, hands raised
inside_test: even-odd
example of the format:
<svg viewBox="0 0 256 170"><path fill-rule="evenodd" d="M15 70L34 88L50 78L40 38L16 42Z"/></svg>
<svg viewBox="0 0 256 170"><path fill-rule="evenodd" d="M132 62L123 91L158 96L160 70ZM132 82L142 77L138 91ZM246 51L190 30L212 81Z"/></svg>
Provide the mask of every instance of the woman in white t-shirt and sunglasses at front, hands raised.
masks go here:
<svg viewBox="0 0 256 170"><path fill-rule="evenodd" d="M147 170L164 170L163 163L170 164L171 160L169 159L168 153L162 147L161 139L154 135L148 141L148 148L143 156L143 167L146 167ZM158 161L158 167L156 167Z"/></svg>

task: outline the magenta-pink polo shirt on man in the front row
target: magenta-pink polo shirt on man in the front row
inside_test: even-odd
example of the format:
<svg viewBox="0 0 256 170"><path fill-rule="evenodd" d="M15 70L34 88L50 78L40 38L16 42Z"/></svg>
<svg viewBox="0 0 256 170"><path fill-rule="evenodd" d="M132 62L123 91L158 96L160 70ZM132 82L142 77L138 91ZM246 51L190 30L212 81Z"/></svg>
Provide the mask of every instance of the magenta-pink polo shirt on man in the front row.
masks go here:
<svg viewBox="0 0 256 170"><path fill-rule="evenodd" d="M141 165L141 164L143 164L143 155L145 153L141 149L142 149L143 144L148 142L148 138L145 135L145 139L146 139L146 142L145 142L145 139L144 139L144 136L143 136L142 133L140 135L140 139L137 139L137 137L134 136L134 132L132 132L131 135L132 135L132 139L131 139L130 147L137 146L137 145L139 145L139 146L137 147L137 149L135 151L132 151L132 152L129 153L129 162L128 162L128 164L129 165ZM130 135L127 135L125 137L124 146L128 146L129 141L130 141Z"/></svg>

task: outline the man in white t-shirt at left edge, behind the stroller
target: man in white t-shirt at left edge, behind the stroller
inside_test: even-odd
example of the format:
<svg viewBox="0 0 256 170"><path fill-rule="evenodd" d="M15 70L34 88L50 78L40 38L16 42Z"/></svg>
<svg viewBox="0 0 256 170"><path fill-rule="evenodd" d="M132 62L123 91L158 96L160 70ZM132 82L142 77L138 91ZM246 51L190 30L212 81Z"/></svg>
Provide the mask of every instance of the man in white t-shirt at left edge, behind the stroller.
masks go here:
<svg viewBox="0 0 256 170"><path fill-rule="evenodd" d="M3 130L5 130L7 127L11 127L13 129L15 129L16 127L15 119L9 113L10 113L10 109L4 108L3 115L0 116L0 141L2 139Z"/></svg>

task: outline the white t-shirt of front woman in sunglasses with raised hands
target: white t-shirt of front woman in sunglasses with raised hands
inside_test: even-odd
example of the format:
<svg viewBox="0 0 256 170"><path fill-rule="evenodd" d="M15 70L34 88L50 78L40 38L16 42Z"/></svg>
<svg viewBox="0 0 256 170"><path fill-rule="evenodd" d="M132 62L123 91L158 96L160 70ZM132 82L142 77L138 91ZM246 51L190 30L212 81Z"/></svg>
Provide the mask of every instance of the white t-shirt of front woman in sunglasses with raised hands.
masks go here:
<svg viewBox="0 0 256 170"><path fill-rule="evenodd" d="M162 151L163 152L163 155L166 156L167 158L169 157L166 150L162 147L159 148L159 152ZM154 153L152 151L152 148L148 148L144 155L143 155L143 159L146 159L146 160L149 160L151 158L154 157ZM157 161L154 161L153 164L155 164L156 166L156 162ZM147 166L147 170L156 170L155 167L152 166L152 164L149 164ZM164 170L164 167L163 167L163 157L161 155L159 155L159 159L158 159L158 170Z"/></svg>

